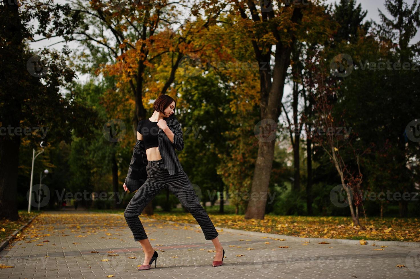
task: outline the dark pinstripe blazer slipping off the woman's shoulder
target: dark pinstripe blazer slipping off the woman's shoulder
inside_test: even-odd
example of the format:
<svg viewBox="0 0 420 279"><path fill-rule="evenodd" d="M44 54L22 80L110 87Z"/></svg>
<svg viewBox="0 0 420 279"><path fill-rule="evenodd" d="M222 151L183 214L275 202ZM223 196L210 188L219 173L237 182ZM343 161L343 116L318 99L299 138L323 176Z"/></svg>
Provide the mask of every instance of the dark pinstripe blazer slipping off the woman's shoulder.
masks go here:
<svg viewBox="0 0 420 279"><path fill-rule="evenodd" d="M162 157L169 174L174 175L182 170L175 149L178 151L184 149L184 138L181 125L175 115L163 119L173 133L173 143L169 140L168 136L166 136L165 132L159 128L157 131L157 146L159 147L160 156ZM147 155L144 141L136 139L136 145L134 146L133 156L131 157L129 171L125 180L126 186L131 193L138 190L147 180L146 166Z"/></svg>

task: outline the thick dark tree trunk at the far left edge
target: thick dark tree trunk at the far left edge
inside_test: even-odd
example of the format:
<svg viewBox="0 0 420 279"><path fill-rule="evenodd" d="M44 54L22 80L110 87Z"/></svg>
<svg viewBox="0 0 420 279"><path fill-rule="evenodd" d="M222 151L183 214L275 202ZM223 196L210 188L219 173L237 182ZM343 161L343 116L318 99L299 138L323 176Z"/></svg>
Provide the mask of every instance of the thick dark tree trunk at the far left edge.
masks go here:
<svg viewBox="0 0 420 279"><path fill-rule="evenodd" d="M15 67L2 65L0 76L8 80L16 81L10 83L3 81L0 84L2 99L0 102L7 102L2 107L0 115L1 126L18 128L23 118L21 115L22 101L25 98L24 90L21 84L25 81L26 61L23 59L24 45L23 29L21 18L19 16L18 5L14 1L3 0L1 7L2 18L6 19L1 31L2 40L7 42L2 48L2 57L8 57L13 61ZM6 71L6 72L5 72ZM6 218L12 221L19 219L16 206L17 179L19 167L19 148L21 137L9 133L0 135L0 219ZM32 154L32 152L31 152ZM29 182L28 182L29 184Z"/></svg>

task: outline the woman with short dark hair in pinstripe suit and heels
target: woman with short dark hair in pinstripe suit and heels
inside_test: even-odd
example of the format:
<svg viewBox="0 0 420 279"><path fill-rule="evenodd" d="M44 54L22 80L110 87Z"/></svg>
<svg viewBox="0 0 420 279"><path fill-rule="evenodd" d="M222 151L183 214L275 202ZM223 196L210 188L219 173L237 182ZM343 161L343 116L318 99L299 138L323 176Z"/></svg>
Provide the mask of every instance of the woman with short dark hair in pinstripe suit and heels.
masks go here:
<svg viewBox="0 0 420 279"><path fill-rule="evenodd" d="M181 167L175 149L184 149L182 128L173 115L176 102L171 96L160 95L153 104L153 115L140 120L129 171L123 185L125 191L136 191L124 211L124 217L144 250L144 263L138 270L150 269L157 252L149 239L139 215L144 207L163 189L169 189L189 210L200 225L205 239L211 239L216 249L213 266L221 266L225 251L210 217L197 199L191 182Z"/></svg>

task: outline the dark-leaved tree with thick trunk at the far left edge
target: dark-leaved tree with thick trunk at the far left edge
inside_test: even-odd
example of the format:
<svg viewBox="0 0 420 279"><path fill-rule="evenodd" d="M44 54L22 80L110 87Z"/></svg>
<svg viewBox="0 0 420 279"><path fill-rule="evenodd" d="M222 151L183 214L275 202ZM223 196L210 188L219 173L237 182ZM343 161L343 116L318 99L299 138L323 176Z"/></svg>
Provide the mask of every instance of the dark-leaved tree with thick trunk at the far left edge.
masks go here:
<svg viewBox="0 0 420 279"><path fill-rule="evenodd" d="M45 30L50 22L46 18L59 13L36 0L0 3L0 21L5 25L0 31L0 122L2 128L9 129L0 136L0 218L19 218L16 183L22 139L30 141L33 149L41 141L45 146L62 140L69 143L72 130L88 137L92 133L90 124L95 123L94 111L74 102L73 92L62 92L74 78L63 55L49 50L35 53L27 45L35 33ZM38 29L31 26L34 20L40 23ZM56 28L66 28L73 21L55 23ZM68 54L66 49L63 54ZM49 130L42 138L31 127Z"/></svg>

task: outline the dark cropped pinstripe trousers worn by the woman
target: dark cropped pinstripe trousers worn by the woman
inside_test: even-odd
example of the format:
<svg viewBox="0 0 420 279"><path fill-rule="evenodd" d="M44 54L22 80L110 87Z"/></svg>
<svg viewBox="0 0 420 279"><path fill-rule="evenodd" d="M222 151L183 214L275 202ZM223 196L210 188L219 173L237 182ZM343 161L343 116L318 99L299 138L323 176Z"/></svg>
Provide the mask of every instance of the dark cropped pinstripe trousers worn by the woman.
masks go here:
<svg viewBox="0 0 420 279"><path fill-rule="evenodd" d="M169 189L194 216L206 240L213 239L219 235L207 212L201 206L184 170L170 175L163 159L160 159L157 161L148 160L146 171L146 182L140 186L124 211L124 217L134 235L134 241L147 238L139 215L142 214L147 204L164 188Z"/></svg>

